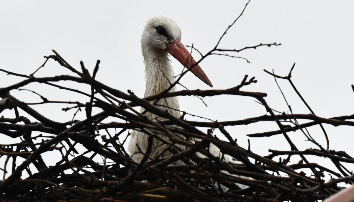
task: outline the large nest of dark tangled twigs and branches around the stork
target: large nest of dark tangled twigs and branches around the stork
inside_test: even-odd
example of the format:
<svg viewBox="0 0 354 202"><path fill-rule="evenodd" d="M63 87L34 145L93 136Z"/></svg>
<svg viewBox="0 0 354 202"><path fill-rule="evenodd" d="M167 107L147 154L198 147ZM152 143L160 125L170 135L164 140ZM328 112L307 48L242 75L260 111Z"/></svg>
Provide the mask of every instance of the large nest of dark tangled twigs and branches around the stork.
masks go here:
<svg viewBox="0 0 354 202"><path fill-rule="evenodd" d="M202 55L193 46L191 49L198 51L201 54L201 60L203 60L212 54L240 58L224 54L224 52L238 53L245 49L280 45L278 43L261 43L239 50L228 50L218 48L219 42L205 55ZM329 140L322 124L354 126L354 122L350 121L354 115L333 118L315 115L291 81L291 72L295 64L287 76L279 76L266 70L265 72L274 77L275 81L277 79L289 81L293 90L308 107L310 114L295 114L290 106L289 113L277 112L265 101L267 94L242 91L242 87L257 82L254 77L249 78L247 75L239 85L229 89L186 89L170 92L169 90L173 86L179 84L179 79L184 73L188 72L185 71L179 75L179 78L171 84L169 89L153 96L140 98L131 91L124 93L97 81L95 76L99 69L99 60L91 75L84 63L80 63L81 71L79 71L67 63L57 52L53 52L53 55L45 56L46 60L39 69L44 67L48 60L53 59L72 71L75 76L35 77L34 75L39 69L29 76L0 69L10 75L24 78L22 82L0 88L2 97L0 112L4 109L13 109L15 112L15 118L0 118L0 137L8 136L18 139L17 143L0 145L0 158L5 159L4 165L0 168L4 173L0 181L0 201L312 202L324 200L341 190L343 187L340 187L339 183L342 185L343 183L353 183L354 175L348 167L354 163L354 159L346 152L329 150ZM248 62L247 59L246 61ZM87 84L90 86L91 93L55 83L58 81ZM52 101L30 90L41 99L41 102L35 104L64 103L74 105L63 110L70 112L76 110L75 117L76 113L84 108L86 118L75 120L73 117L72 120L65 123L57 122L31 108L30 103L18 100L10 94L12 90L34 82L87 96L89 101L86 103ZM188 114L187 112L183 112L181 117L173 117L170 113L162 111L154 105L156 100L173 96L202 98L220 95L251 97L261 103L268 113L243 120L188 121L184 118ZM144 116L144 113L139 113L133 108L138 106L144 108L146 112L163 118L163 121L150 120ZM18 108L26 113L20 114ZM98 108L100 112L93 114L93 108ZM33 119L37 121L31 121ZM115 121L107 121L108 119ZM299 119L307 120L307 122L299 124ZM269 149L267 156L253 153L250 147L240 147L224 128L225 126L247 125L262 121L275 122L279 126L279 130L254 133L248 136L255 138L282 135L289 143L290 149L288 151ZM307 127L316 125L321 127L324 133L327 142L325 146L316 142L307 131ZM146 152L141 152L144 158L140 163L134 162L126 152L124 148L126 138L120 138L122 134L129 137L132 130L140 130L149 135L148 147ZM307 141L312 142L316 149L299 150L287 135L287 132L297 130L301 131ZM214 135L215 131L224 137L219 136L219 139ZM161 138L160 141L168 145L165 152L169 152L171 155L164 158L161 155L159 158L150 159L151 142L153 138L159 138L158 135L168 137L169 141ZM191 141L192 139L194 141ZM227 141L225 141L226 139ZM221 153L219 155L210 153L210 144L215 145ZM79 151L76 150L75 146L77 145L82 145ZM177 145L182 145L183 149ZM272 145L269 145L269 148L271 147ZM47 166L42 158L42 154L45 152L60 153L61 158L55 165ZM204 155L204 158L196 155L197 153ZM226 161L224 155L229 155L242 164ZM330 159L337 170L310 162L307 159L308 155ZM94 160L97 156L101 156L102 162ZM285 158L282 159L280 156L285 156ZM290 158L295 156L301 161L291 164ZM183 164L176 165L177 161L182 161ZM7 168L8 164L12 164L12 170ZM34 166L36 169L31 169L30 166ZM331 175L333 178L324 180L326 175ZM240 185L246 185L246 188L241 189Z"/></svg>

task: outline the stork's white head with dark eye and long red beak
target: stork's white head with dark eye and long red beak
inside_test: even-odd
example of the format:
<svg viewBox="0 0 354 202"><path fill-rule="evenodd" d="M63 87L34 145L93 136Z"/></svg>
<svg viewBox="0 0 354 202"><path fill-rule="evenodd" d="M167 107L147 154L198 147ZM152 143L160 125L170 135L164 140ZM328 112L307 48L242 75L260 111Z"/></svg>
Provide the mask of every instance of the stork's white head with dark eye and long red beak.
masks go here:
<svg viewBox="0 0 354 202"><path fill-rule="evenodd" d="M167 17L154 17L148 20L141 38L143 54L151 55L167 52L198 77L201 81L213 87L209 78L192 58L187 48L181 42L181 29L175 21ZM145 52L145 53L144 53Z"/></svg>

